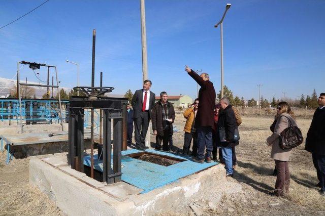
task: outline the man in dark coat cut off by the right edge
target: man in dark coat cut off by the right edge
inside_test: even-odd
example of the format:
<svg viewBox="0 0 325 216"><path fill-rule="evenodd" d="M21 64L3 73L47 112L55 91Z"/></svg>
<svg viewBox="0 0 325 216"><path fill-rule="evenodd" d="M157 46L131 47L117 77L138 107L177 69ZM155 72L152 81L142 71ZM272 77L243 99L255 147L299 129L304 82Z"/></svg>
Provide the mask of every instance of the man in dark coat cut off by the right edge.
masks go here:
<svg viewBox="0 0 325 216"><path fill-rule="evenodd" d="M319 107L307 133L306 150L313 158L319 180L317 186L321 188L319 193L325 196L325 93L320 94L317 102Z"/></svg>

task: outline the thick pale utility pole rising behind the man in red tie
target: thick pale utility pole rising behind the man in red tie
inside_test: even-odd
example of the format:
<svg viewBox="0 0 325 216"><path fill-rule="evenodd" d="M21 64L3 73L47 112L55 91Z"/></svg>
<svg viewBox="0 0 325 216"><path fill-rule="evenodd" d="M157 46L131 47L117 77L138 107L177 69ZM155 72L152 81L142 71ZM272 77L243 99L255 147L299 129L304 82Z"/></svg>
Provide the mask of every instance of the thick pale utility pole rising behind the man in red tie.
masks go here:
<svg viewBox="0 0 325 216"><path fill-rule="evenodd" d="M148 79L148 63L147 63L147 35L146 35L146 14L144 0L140 0L141 13L141 42L142 42L142 83ZM150 131L151 125L148 126L146 134L145 146L150 148Z"/></svg>

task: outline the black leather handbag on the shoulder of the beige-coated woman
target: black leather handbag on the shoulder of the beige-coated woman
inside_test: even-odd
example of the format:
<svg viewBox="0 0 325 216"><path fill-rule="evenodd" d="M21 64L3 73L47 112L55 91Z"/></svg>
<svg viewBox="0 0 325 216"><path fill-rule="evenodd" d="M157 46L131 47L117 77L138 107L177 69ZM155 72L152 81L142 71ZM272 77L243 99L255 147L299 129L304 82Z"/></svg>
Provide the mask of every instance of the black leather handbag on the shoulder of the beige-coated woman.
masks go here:
<svg viewBox="0 0 325 216"><path fill-rule="evenodd" d="M293 126L290 119L288 117L286 118L288 119L289 126L280 133L279 146L281 149L292 149L302 144L304 138L301 129L297 126Z"/></svg>

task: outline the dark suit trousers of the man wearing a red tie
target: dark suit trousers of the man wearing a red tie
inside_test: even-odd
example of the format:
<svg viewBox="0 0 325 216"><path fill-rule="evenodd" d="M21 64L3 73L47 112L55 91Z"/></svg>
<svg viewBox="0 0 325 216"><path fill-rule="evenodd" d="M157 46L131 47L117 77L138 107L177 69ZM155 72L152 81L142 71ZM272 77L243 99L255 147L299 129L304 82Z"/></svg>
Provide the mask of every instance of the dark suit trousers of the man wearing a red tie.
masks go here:
<svg viewBox="0 0 325 216"><path fill-rule="evenodd" d="M145 147L145 139L149 126L149 112L140 112L140 116L134 119L136 146Z"/></svg>

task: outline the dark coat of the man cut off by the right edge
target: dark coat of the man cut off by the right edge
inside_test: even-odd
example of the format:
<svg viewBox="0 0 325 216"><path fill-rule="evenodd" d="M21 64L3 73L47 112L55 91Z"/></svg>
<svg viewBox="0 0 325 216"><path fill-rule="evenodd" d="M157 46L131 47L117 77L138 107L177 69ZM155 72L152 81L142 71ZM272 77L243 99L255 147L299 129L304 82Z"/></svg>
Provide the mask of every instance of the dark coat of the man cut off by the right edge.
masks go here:
<svg viewBox="0 0 325 216"><path fill-rule="evenodd" d="M325 107L317 108L314 113L307 133L306 150L325 155Z"/></svg>

